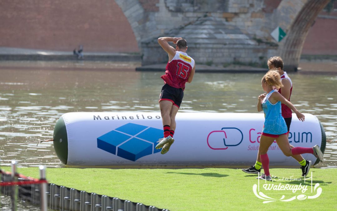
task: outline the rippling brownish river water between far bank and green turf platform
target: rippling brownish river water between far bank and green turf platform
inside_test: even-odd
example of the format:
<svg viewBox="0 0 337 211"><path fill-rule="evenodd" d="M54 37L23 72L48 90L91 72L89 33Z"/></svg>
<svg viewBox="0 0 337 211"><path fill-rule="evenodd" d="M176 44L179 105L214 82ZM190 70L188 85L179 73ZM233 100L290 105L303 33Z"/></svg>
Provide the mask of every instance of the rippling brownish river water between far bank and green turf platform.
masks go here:
<svg viewBox="0 0 337 211"><path fill-rule="evenodd" d="M53 138L58 118L77 111L158 112L162 73L132 69L0 70L0 146ZM180 112L256 112L263 74L196 73L186 85ZM290 74L292 102L316 115L327 140L325 162L337 167L337 95L335 75ZM0 148L2 165L63 167L53 144L30 143Z"/></svg>

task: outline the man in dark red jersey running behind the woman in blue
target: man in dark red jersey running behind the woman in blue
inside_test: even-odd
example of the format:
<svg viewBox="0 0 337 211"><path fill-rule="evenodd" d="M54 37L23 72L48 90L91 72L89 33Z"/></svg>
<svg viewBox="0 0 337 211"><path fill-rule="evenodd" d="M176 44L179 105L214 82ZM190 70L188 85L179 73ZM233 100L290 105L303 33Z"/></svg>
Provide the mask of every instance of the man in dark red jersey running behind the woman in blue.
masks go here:
<svg viewBox="0 0 337 211"><path fill-rule="evenodd" d="M282 87L278 89L278 92L288 101L290 101L290 96L292 95L293 91L293 83L292 80L289 78L288 74L283 71L283 60L279 56L274 56L268 59L268 68L269 70L276 69L277 72L281 76L281 83ZM286 106L285 104L281 104L281 110L282 110L282 116L285 120L285 123L287 125L287 130L289 133L290 124L292 122L292 110ZM291 148L294 148L294 146L290 145ZM293 155L292 156L295 160L297 160L300 164L301 170L302 170L302 176L307 176L309 173L309 169L311 167L311 161L310 160L304 160L304 158L301 155ZM258 174L261 172L261 159L259 151L257 152L257 158L255 165L250 166L249 168L242 169L243 172L246 172L248 174Z"/></svg>

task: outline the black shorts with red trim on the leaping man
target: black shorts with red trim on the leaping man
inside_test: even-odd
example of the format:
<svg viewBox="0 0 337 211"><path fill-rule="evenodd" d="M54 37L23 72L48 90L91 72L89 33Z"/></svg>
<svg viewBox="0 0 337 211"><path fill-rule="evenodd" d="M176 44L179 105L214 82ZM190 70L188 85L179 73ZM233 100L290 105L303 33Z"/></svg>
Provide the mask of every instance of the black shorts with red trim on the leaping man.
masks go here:
<svg viewBox="0 0 337 211"><path fill-rule="evenodd" d="M183 101L184 91L182 88L175 88L168 84L164 84L161 88L159 102L162 100L168 100L173 103L173 105L180 107L181 102Z"/></svg>

